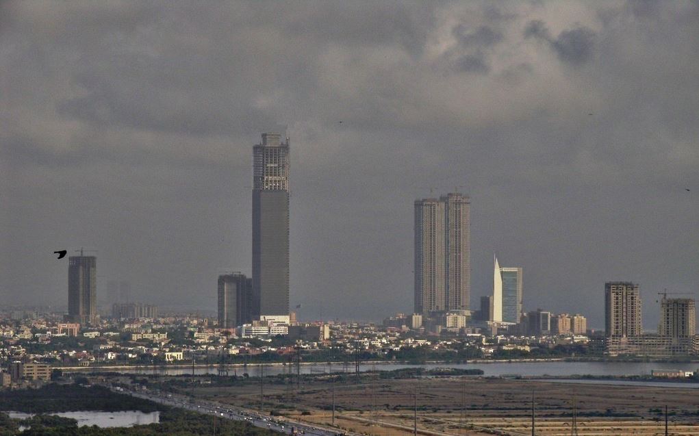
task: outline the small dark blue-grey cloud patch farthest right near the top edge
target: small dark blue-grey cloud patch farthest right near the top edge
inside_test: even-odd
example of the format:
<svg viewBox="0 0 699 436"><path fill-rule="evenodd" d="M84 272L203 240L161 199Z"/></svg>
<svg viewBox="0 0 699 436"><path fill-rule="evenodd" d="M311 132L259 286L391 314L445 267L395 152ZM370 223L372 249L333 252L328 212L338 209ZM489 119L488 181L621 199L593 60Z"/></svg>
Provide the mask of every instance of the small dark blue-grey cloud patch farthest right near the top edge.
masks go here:
<svg viewBox="0 0 699 436"><path fill-rule="evenodd" d="M552 38L546 24L540 20L534 20L524 29L524 36L546 41L558 54L559 59L579 65L592 58L596 34L591 29L581 26L564 30L558 38Z"/></svg>

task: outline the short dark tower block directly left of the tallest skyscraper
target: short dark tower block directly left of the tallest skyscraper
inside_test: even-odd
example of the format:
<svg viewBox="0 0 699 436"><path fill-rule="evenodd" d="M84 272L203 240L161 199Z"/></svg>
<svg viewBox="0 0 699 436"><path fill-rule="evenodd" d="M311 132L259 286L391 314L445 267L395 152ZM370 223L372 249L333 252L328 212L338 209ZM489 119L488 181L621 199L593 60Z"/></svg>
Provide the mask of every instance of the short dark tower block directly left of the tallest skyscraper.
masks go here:
<svg viewBox="0 0 699 436"><path fill-rule="evenodd" d="M219 275L219 328L235 328L252 321L252 279L244 274Z"/></svg>

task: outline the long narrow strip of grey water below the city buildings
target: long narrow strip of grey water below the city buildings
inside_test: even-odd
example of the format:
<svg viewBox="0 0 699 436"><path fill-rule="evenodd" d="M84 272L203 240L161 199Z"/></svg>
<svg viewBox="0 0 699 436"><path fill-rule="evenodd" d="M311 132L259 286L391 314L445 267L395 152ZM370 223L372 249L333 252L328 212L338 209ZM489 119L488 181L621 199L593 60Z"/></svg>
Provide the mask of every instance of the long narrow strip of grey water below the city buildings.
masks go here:
<svg viewBox="0 0 699 436"><path fill-rule="evenodd" d="M521 375L529 377L554 376L566 377L573 375L650 375L654 369L674 369L684 371L696 371L699 368L699 363L640 363L640 362L507 362L497 361L491 363L428 363L426 365L405 365L391 363L376 363L359 365L360 371L370 371L372 368L376 370L398 370L401 368L459 368L459 369L480 369L484 375L503 376L503 375ZM280 375L288 374L292 369L289 365L265 365L264 375ZM211 365L208 367L194 368L194 374L218 374L218 366ZM243 366L228 366L229 375L242 376L243 374L250 377L257 377L260 372L259 365ZM110 368L90 368L91 372L111 371L120 372L122 374L153 374L152 367L127 368L127 369L110 369ZM296 373L296 367L293 368ZM322 372L354 372L354 362L349 365L343 363L319 363L317 365L301 365L302 374L317 374ZM160 367L157 368L159 375L190 375L192 368L185 367Z"/></svg>

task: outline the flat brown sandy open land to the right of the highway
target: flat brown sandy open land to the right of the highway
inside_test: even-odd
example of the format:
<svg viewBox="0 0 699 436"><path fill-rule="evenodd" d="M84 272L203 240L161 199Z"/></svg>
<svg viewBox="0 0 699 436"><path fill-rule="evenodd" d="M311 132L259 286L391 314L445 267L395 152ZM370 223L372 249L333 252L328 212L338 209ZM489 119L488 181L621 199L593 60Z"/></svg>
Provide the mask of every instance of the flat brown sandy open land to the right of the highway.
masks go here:
<svg viewBox="0 0 699 436"><path fill-rule="evenodd" d="M187 390L189 391L189 390ZM263 386L266 412L331 424L370 435L531 435L534 395L537 435L699 435L699 391L686 388L584 385L534 380L444 377L379 379L361 384L329 382L324 377L283 384L270 378ZM259 408L259 383L197 387L195 395ZM577 433L572 432L573 402ZM417 413L416 413L417 409Z"/></svg>

